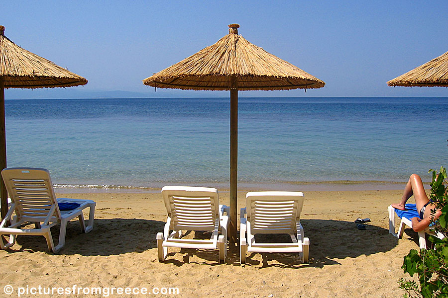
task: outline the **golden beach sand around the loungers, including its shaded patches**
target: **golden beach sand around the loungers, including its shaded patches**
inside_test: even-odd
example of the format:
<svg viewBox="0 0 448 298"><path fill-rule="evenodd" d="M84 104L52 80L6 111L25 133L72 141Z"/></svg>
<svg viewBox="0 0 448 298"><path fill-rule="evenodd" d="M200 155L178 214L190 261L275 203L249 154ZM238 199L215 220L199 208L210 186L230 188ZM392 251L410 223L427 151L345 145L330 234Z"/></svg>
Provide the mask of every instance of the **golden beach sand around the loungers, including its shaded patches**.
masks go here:
<svg viewBox="0 0 448 298"><path fill-rule="evenodd" d="M178 288L179 294L171 295L176 297L402 297L397 281L408 277L401 269L403 256L418 249L418 238L411 229L400 240L389 234L387 206L401 192L305 192L301 223L311 242L309 264L295 254L250 254L243 266L235 245L225 264L219 264L218 250L176 248L159 263L155 237L166 221L160 193L70 194L97 202L93 231L81 233L78 222L70 222L58 254L48 251L43 237L19 236L11 249L0 251L0 297L17 297L17 291L28 291L21 297L166 297L150 291L171 287ZM241 207L244 195L238 194ZM228 204L228 192L221 191L220 200ZM371 219L366 230L356 228L359 217ZM58 227L52 228L55 241ZM4 294L6 285L12 286L10 296ZM39 286L43 293L48 287L72 291L74 285L79 295L38 294ZM109 293L83 294L92 287ZM147 288L150 294L111 295L112 287Z"/></svg>

